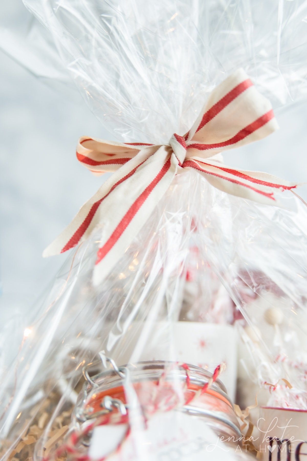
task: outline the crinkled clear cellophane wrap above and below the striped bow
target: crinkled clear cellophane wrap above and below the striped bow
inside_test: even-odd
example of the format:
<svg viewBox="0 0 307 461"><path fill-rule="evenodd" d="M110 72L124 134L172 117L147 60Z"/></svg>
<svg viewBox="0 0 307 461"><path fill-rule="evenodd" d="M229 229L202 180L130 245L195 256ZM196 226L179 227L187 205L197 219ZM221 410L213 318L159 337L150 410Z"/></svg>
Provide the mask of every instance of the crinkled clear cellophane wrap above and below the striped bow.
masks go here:
<svg viewBox="0 0 307 461"><path fill-rule="evenodd" d="M274 108L307 92L302 2L23 2L46 27L42 44L57 51L57 65L113 140L161 144L183 135L210 91L240 66ZM22 457L15 448L22 437L29 453L33 437L36 457L53 456L50 433L57 421L72 424L82 368L99 352L117 366L163 360L180 367L178 325L235 331L245 372L238 400L253 403L253 384L253 401L267 389L274 405L307 409L307 210L290 192L280 196L284 207L260 205L215 189L195 171L178 174L116 267L94 285L102 221L69 255L33 322L3 329L3 456ZM225 373L236 376L224 330L214 341L195 331L181 342L191 365L213 372L225 358ZM203 361L193 348L206 349Z"/></svg>

